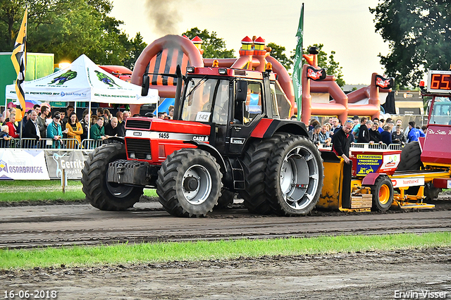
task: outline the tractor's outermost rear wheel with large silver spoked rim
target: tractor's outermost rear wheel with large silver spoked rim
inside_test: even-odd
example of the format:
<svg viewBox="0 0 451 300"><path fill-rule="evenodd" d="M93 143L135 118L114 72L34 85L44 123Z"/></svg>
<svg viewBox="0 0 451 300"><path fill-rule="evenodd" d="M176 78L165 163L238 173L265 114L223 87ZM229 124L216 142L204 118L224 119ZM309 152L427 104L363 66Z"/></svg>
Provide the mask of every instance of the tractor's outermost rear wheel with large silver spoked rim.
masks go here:
<svg viewBox="0 0 451 300"><path fill-rule="evenodd" d="M306 137L292 135L276 146L266 168L266 197L279 215L307 215L323 187L323 160Z"/></svg>

